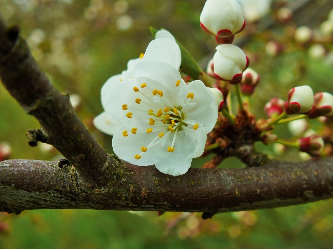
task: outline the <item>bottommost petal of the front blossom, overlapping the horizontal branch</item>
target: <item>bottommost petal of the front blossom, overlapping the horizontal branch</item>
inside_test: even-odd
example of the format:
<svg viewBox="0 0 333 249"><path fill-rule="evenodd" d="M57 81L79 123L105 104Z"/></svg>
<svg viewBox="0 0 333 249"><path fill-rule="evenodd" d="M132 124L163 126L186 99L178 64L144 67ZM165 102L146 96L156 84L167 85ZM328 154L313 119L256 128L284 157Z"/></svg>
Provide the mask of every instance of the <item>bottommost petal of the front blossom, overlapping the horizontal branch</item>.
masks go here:
<svg viewBox="0 0 333 249"><path fill-rule="evenodd" d="M186 133L184 130L178 131L174 143L174 151L167 151L167 144L171 144L172 137L166 141L166 146L157 147L154 155L156 168L165 174L179 176L185 174L194 156L193 151L196 148L194 136Z"/></svg>

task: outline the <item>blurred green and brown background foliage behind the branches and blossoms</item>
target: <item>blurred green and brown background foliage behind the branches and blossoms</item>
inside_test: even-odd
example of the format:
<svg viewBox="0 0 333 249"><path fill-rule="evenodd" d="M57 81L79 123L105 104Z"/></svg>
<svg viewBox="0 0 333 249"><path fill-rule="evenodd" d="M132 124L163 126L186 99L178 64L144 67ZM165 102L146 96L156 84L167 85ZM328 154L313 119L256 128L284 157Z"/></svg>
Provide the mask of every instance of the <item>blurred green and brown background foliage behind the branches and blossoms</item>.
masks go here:
<svg viewBox="0 0 333 249"><path fill-rule="evenodd" d="M1 0L0 13L8 24L21 27L22 37L27 39L51 82L60 91L69 91L84 124L112 153L111 137L92 124L102 111L102 85L110 76L125 70L129 59L145 51L153 39L149 26L169 30L205 67L216 43L199 26L204 2ZM250 66L260 74L260 83L250 100L257 118L265 118L263 106L270 98L286 99L286 93L294 86L307 84L314 92L333 93L333 25L331 29L329 25L323 27L332 2L288 1L294 6L294 19L281 11L285 4L286 1L273 1L271 11L260 20L248 17L247 27L235 38L250 57ZM313 41L295 41L295 29L302 25L313 30ZM313 48L315 44L317 49ZM26 129L39 124L23 112L2 85L0 110L0 142L11 147L7 157L61 157L52 146L27 145ZM322 127L318 121L310 126L316 130ZM283 138L292 136L286 125L280 125L276 133ZM257 148L281 160L300 160L294 150L277 154L274 146L261 143ZM207 160L196 159L194 166L200 167ZM233 158L220 165L242 166ZM158 218L97 210L0 213L0 248L333 248L332 208L333 200L326 200L217 214L211 220L201 220L200 214L190 213L166 213Z"/></svg>

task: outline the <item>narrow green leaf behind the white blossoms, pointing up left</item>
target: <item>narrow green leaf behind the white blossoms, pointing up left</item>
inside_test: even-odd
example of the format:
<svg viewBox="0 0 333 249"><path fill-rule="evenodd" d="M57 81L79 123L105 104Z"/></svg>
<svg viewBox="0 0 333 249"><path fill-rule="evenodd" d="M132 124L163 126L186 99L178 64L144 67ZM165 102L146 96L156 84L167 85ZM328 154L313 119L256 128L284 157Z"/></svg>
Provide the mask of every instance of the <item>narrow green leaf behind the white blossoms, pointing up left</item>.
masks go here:
<svg viewBox="0 0 333 249"><path fill-rule="evenodd" d="M162 28L163 29L163 28ZM157 29L149 27L150 32L155 37L158 32ZM205 83L206 86L211 86L211 82L206 76L206 73L200 68L198 63L195 61L193 56L188 52L188 50L176 39L177 44L181 51L181 69L188 75L191 76L193 80L200 79Z"/></svg>

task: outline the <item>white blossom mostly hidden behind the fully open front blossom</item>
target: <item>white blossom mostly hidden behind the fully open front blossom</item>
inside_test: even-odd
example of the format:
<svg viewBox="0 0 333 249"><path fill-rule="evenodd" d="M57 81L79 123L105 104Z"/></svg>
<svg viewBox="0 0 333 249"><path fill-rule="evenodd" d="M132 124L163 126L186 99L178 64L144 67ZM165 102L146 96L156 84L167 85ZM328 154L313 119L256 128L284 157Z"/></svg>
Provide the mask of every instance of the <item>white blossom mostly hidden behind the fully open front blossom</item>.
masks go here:
<svg viewBox="0 0 333 249"><path fill-rule="evenodd" d="M121 74L112 76L107 80L101 89L102 106L105 110L106 93L112 86L120 81L127 80L133 75L133 67L141 61L162 61L172 65L177 70L181 63L181 53L174 37L166 30L160 30L156 33L155 40L151 41L146 49L145 54L140 54L139 58L131 59L127 63L127 70ZM100 131L113 135L119 128L120 123L107 112L102 112L94 119L94 125Z"/></svg>

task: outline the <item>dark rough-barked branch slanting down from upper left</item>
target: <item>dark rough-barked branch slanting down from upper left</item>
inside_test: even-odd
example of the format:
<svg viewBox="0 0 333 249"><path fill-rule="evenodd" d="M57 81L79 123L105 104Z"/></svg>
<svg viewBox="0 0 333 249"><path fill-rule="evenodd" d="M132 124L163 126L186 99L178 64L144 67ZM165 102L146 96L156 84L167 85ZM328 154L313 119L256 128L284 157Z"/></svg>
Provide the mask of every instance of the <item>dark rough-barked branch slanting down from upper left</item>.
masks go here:
<svg viewBox="0 0 333 249"><path fill-rule="evenodd" d="M44 141L56 147L87 181L100 185L114 173L113 159L82 124L68 94L55 89L18 35L18 27L7 29L0 19L2 84L39 121Z"/></svg>

